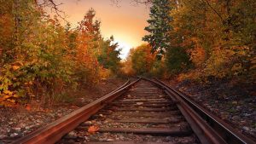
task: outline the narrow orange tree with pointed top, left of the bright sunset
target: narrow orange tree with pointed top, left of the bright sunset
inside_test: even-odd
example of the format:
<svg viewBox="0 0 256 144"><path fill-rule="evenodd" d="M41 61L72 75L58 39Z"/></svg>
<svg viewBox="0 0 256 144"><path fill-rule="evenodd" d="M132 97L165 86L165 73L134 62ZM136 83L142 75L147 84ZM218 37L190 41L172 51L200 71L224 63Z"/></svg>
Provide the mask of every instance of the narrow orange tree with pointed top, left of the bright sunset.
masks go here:
<svg viewBox="0 0 256 144"><path fill-rule="evenodd" d="M100 21L95 20L96 11L90 9L85 15L84 20L79 22L78 53L79 61L78 76L83 83L99 80L100 65L97 61L97 54L100 51L99 40L101 39ZM86 74L84 74L86 73Z"/></svg>

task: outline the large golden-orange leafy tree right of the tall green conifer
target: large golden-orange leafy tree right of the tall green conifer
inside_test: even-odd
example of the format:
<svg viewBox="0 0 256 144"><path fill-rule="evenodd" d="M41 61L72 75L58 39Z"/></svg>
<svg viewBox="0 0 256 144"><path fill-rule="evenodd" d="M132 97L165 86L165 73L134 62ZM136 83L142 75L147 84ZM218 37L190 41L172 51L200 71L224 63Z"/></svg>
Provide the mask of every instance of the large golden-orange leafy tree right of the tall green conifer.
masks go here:
<svg viewBox="0 0 256 144"><path fill-rule="evenodd" d="M251 61L255 55L254 6L253 1L183 0L179 9L172 13L179 27L178 33L191 47L191 60L204 70L206 76L252 75L248 72L253 72Z"/></svg>

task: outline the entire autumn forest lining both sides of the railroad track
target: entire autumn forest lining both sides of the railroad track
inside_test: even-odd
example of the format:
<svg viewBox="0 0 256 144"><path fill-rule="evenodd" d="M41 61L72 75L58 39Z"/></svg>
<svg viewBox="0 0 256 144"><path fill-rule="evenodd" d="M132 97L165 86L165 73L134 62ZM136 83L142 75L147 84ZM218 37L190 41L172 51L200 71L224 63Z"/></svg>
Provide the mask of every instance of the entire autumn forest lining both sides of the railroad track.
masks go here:
<svg viewBox="0 0 256 144"><path fill-rule="evenodd" d="M113 1L113 3L118 3ZM154 0L141 46L120 60L119 43L103 38L89 9L79 26L63 25L51 0L0 5L0 103L26 104L34 97L91 85L113 76L147 76L255 82L256 23L253 0ZM55 16L47 9L54 9Z"/></svg>

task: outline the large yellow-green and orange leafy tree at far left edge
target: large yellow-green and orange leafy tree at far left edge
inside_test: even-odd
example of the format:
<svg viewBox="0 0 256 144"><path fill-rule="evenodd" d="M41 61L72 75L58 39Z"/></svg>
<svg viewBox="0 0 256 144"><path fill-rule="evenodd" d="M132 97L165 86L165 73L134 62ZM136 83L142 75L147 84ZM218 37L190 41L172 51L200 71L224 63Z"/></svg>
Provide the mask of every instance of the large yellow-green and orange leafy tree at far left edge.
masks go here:
<svg viewBox="0 0 256 144"><path fill-rule="evenodd" d="M6 20L0 24L4 25L0 28L1 39L5 39L0 46L0 102L16 102L19 97L28 101L46 91L53 94L64 85L75 85L71 78L73 55L60 22L44 17L43 9L32 0L3 2L1 9L1 18ZM7 37L2 38L4 35Z"/></svg>

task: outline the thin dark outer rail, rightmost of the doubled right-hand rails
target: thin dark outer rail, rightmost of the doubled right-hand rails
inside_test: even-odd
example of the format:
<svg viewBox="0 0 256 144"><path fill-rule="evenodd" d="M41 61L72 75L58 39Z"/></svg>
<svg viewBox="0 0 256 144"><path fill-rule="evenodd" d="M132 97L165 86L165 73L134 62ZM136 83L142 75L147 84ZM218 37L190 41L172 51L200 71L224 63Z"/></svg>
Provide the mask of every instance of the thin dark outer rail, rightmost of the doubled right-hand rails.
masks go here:
<svg viewBox="0 0 256 144"><path fill-rule="evenodd" d="M180 100L185 101L189 107L192 107L193 110L204 119L204 121L209 124L213 130L218 132L218 135L230 144L255 144L256 142L248 138L246 135L242 135L240 132L235 130L230 124L224 122L224 120L213 115L212 112L209 112L206 108L201 107L195 101L189 98L188 95L183 94L181 91L174 89L164 82L160 81L157 78L154 78L158 84L167 89L172 95L179 97ZM154 81L153 81L154 82Z"/></svg>

